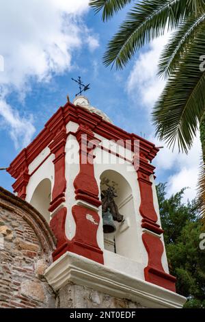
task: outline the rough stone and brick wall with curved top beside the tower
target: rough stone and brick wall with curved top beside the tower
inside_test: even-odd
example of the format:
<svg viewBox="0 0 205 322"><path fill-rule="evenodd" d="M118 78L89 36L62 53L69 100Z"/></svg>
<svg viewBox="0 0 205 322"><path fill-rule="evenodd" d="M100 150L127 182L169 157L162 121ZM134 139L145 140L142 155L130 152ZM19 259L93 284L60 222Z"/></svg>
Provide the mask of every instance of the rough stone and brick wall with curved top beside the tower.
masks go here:
<svg viewBox="0 0 205 322"><path fill-rule="evenodd" d="M55 238L43 217L0 188L0 308L55 308L44 279Z"/></svg>

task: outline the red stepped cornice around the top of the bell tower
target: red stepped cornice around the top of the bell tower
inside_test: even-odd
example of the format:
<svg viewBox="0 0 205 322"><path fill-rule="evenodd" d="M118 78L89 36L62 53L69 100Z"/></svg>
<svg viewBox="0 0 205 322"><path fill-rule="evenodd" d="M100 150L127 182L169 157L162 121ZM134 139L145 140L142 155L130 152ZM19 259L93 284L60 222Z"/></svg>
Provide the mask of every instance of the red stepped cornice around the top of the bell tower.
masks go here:
<svg viewBox="0 0 205 322"><path fill-rule="evenodd" d="M148 142L148 140L126 132L115 125L104 121L102 117L97 114L90 113L80 106L66 103L64 107L59 108L51 119L49 119L44 129L36 136L33 142L16 156L8 168L8 173L17 179L21 173L21 164L25 162L25 160L28 165L31 164L40 152L51 143L53 138L57 135L57 132L59 132L69 121L89 125L96 134L99 134L108 140L139 140L141 151L150 161L159 151L159 149L157 149L154 144ZM131 149L133 151L134 143L132 143Z"/></svg>

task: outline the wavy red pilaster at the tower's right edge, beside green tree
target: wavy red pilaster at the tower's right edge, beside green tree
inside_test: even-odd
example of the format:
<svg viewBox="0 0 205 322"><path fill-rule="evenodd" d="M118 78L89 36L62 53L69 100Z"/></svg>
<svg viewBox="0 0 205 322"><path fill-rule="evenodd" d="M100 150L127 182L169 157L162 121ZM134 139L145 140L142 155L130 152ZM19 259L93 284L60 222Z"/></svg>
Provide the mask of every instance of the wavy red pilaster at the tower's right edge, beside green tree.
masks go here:
<svg viewBox="0 0 205 322"><path fill-rule="evenodd" d="M143 245L148 252L148 266L144 269L145 280L176 292L176 277L165 273L161 262L164 251L163 243L159 236L151 233L163 234L160 225L156 223L158 217L154 209L152 182L150 182L150 175L154 174L154 166L148 162L144 151L140 151L139 156L135 158L139 158L139 167L136 171L141 195L139 212L143 217L141 227L150 231L142 235ZM137 162L133 163L137 164Z"/></svg>

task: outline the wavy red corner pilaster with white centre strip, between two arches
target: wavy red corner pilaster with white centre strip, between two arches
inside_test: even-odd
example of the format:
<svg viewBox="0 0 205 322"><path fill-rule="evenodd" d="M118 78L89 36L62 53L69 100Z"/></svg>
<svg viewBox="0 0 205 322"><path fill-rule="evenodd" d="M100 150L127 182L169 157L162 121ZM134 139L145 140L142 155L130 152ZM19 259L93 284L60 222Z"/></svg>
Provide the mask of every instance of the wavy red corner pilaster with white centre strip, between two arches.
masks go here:
<svg viewBox="0 0 205 322"><path fill-rule="evenodd" d="M99 143L94 134L87 127L79 127L77 131L79 142L80 172L74 180L76 199L87 201L99 206L98 185L94 177L93 149ZM54 211L65 201L66 178L65 178L65 145L66 133L60 132L55 140L49 145L51 152L55 153L55 184L53 187L50 211ZM57 260L66 251L77 253L81 256L103 263L102 251L98 247L96 235L99 225L98 213L83 206L73 206L72 214L76 223L76 233L72 240L68 240L65 232L66 207L55 212L51 219L51 228L57 238L57 249L53 252L53 260Z"/></svg>

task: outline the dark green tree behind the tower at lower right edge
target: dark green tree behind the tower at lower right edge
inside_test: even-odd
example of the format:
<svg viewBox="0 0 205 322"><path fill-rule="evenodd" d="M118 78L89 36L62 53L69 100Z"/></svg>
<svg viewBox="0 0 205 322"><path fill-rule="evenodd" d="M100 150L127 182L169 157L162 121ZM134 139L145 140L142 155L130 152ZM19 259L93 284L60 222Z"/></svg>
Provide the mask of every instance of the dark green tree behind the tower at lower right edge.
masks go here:
<svg viewBox="0 0 205 322"><path fill-rule="evenodd" d="M166 184L156 186L169 271L177 277L177 292L185 308L205 308L205 250L201 250L202 222L196 201L182 203L184 189L166 198Z"/></svg>

